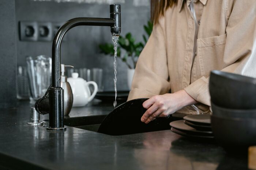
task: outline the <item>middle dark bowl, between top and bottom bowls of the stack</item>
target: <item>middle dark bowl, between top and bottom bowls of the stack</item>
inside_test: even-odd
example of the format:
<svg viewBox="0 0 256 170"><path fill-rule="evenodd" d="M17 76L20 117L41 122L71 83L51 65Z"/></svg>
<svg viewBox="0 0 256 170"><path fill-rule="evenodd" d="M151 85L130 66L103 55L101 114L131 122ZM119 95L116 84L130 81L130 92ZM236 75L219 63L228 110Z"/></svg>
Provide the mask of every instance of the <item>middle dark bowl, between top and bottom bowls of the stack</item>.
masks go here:
<svg viewBox="0 0 256 170"><path fill-rule="evenodd" d="M226 118L254 118L256 119L256 109L233 109L217 106L211 102L212 115Z"/></svg>

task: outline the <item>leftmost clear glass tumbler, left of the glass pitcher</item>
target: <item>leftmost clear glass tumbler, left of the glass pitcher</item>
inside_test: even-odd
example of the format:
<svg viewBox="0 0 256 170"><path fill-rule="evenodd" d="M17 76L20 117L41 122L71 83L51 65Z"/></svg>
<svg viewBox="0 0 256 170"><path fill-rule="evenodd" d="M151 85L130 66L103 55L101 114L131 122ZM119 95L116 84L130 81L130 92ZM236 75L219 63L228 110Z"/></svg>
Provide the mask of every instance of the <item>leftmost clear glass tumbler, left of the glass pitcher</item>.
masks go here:
<svg viewBox="0 0 256 170"><path fill-rule="evenodd" d="M29 80L27 78L27 68L18 66L17 69L17 99L29 99Z"/></svg>

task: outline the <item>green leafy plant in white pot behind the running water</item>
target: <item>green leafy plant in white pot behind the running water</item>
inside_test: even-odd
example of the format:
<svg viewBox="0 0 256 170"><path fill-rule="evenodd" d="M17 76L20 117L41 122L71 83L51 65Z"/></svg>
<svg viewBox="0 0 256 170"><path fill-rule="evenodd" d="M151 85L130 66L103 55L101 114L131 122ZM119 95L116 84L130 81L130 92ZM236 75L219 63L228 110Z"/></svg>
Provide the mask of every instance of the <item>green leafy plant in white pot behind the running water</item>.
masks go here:
<svg viewBox="0 0 256 170"><path fill-rule="evenodd" d="M130 32L128 32L125 37L119 36L118 47L117 47L117 57L120 58L128 68L135 68L138 57L142 52L144 46L147 43L148 37L151 35L153 30L153 23L151 21L147 22L147 25L144 25L144 31L147 33L143 36L144 44L142 42L135 42L135 38ZM106 55L114 56L114 45L112 43L99 44L101 53ZM121 55L121 48L125 51L125 54ZM128 58L131 58L132 65L128 63Z"/></svg>

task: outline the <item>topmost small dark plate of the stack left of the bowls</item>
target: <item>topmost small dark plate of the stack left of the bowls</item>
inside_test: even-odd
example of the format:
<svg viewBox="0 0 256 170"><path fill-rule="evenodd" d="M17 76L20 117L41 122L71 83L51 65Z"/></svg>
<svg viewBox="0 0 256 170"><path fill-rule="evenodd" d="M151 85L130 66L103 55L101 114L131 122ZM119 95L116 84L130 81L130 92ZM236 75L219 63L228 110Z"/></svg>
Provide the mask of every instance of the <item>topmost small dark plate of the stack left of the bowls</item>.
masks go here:
<svg viewBox="0 0 256 170"><path fill-rule="evenodd" d="M210 114L201 114L201 115L188 115L183 119L202 126L211 126L211 115Z"/></svg>

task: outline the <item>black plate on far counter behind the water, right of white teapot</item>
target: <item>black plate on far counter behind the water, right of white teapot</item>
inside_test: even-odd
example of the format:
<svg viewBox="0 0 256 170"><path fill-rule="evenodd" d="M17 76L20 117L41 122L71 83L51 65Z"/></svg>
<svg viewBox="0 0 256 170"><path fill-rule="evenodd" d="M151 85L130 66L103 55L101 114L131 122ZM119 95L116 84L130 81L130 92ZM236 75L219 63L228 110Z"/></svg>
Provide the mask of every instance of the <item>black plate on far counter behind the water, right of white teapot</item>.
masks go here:
<svg viewBox="0 0 256 170"><path fill-rule="evenodd" d="M129 95L129 91L117 91L117 98L118 101L126 101ZM114 91L103 91L97 92L95 95L96 99L104 100L104 101L111 101L115 99L115 92Z"/></svg>

